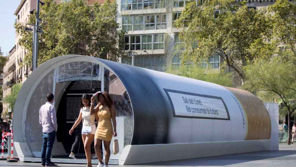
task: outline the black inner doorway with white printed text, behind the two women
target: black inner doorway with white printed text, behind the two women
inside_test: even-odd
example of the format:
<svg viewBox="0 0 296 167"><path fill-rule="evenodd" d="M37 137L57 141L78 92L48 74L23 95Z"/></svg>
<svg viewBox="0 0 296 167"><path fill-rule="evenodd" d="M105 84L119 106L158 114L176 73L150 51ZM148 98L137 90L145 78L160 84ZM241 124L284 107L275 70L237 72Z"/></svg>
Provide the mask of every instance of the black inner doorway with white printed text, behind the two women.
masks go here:
<svg viewBox="0 0 296 167"><path fill-rule="evenodd" d="M69 130L73 126L77 115L79 115L81 108L81 96L82 94L92 95L98 91L101 91L101 81L78 80L70 81L68 85L69 86L67 86L67 89L65 89L65 92L62 95L57 107L57 141L62 142L65 151L70 153L76 134L74 131L72 135L69 135ZM92 144L92 147L93 146L94 143ZM92 150L92 152L94 153L94 150ZM74 150L74 154L84 154L82 140L80 140L78 148Z"/></svg>

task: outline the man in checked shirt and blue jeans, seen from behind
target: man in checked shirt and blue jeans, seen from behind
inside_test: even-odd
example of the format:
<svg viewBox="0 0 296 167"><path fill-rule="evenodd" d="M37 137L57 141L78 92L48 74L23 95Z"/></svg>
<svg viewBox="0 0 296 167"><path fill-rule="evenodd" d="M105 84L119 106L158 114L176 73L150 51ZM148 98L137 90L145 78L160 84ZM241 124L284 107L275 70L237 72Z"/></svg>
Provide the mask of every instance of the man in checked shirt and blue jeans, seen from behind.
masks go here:
<svg viewBox="0 0 296 167"><path fill-rule="evenodd" d="M39 110L39 123L42 125L43 144L41 149L41 165L57 166L50 161L52 154L52 146L54 144L57 132L57 116L54 105L54 95L49 93L46 95L46 102Z"/></svg>

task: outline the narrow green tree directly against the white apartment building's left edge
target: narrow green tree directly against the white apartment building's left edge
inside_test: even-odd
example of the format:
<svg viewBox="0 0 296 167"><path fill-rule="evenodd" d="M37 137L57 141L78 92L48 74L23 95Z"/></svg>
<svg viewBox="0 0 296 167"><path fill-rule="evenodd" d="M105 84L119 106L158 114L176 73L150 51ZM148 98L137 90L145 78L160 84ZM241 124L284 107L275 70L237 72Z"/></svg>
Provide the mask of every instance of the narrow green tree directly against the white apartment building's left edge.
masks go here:
<svg viewBox="0 0 296 167"><path fill-rule="evenodd" d="M116 22L117 13L116 1L105 1L101 6L95 3L93 7L94 21L91 23L92 39L89 45L88 53L102 58L104 55L109 55L111 60L117 61L124 54L121 50L124 30L119 29L119 24Z"/></svg>

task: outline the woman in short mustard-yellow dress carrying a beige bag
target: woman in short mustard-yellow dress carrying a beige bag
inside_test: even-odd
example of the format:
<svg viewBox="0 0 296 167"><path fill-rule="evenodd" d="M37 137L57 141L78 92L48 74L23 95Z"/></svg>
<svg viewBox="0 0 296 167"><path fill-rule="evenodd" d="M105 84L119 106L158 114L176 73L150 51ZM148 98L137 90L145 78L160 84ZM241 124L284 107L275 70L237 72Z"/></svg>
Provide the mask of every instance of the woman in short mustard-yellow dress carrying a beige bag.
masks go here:
<svg viewBox="0 0 296 167"><path fill-rule="evenodd" d="M107 167L110 158L111 139L112 136L117 136L115 119L116 112L114 102L107 92L99 93L97 98L98 105L96 105L94 108L94 98L91 97L90 107L90 111L92 112L92 110L94 110L97 120L99 119L98 127L96 128L96 133L94 136L94 147L99 160L99 165L97 167ZM105 164L102 161L102 155L100 151L102 141L104 141L104 148L106 151Z"/></svg>

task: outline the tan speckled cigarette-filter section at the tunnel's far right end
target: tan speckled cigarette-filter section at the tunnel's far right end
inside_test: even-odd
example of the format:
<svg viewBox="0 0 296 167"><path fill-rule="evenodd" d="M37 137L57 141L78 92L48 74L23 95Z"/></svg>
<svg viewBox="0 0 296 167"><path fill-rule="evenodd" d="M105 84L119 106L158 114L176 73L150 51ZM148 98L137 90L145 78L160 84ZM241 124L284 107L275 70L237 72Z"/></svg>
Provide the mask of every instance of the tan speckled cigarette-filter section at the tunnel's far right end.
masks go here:
<svg viewBox="0 0 296 167"><path fill-rule="evenodd" d="M268 111L252 93L242 89L225 87L234 94L242 104L247 116L247 135L245 140L270 139L271 122Z"/></svg>

